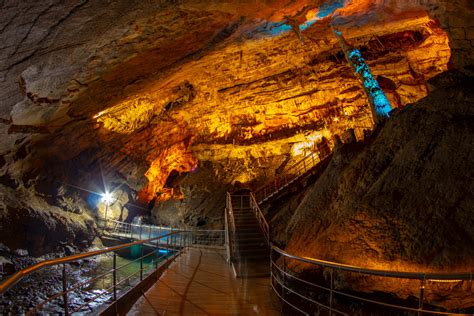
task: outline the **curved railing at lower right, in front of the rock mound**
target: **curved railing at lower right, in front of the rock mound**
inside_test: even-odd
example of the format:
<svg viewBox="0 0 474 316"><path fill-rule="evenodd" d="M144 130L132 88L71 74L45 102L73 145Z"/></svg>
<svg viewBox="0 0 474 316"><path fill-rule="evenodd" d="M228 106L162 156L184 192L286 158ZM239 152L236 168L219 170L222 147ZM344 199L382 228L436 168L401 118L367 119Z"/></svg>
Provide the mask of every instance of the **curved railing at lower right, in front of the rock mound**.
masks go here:
<svg viewBox="0 0 474 316"><path fill-rule="evenodd" d="M338 264L334 262L316 260L307 257L298 257L291 255L284 250L272 245L271 246L271 286L277 296L292 310L292 314L299 313L303 315L312 315L316 309L325 310L329 315L351 315L354 313L350 309L349 304L341 304L341 301L338 301L337 298L341 297L347 301L356 303L363 303L363 308L372 308L371 311L365 311L366 313L372 312L372 314L377 314L373 312L373 309L383 308L384 314L390 314L389 311L400 314L401 312L407 313L412 312L418 315L463 315L455 314L452 312L444 312L438 310L428 310L425 306L425 287L430 283L434 282L471 282L472 287L472 278L473 273L453 273L453 274L435 274L435 273L412 273L412 272L394 272L394 271L385 271L385 270L372 270L364 269L361 267ZM329 270L329 280L314 283L308 280L299 278L296 273L294 273L289 263L298 262L302 264L309 264L316 268L321 268ZM399 304L394 304L393 302L383 302L380 298L372 299L369 296L363 297L360 294L354 292L348 293L348 291L343 292L340 289L337 289L335 286L335 272L338 273L339 277L341 274L356 274L358 278L364 278L364 281L367 282L367 278L370 277L382 277L382 278L394 278L397 280L405 280L403 283L399 281L399 286L405 284L409 286L410 280L412 282L419 282L419 295L417 301L413 302L412 306L403 306ZM327 285L326 283L329 283ZM460 287L463 290L467 291L468 287ZM409 305L409 304L407 304ZM414 305L414 306L413 306ZM354 305L353 305L354 306ZM353 307L352 306L352 307ZM363 312L363 311L362 311Z"/></svg>

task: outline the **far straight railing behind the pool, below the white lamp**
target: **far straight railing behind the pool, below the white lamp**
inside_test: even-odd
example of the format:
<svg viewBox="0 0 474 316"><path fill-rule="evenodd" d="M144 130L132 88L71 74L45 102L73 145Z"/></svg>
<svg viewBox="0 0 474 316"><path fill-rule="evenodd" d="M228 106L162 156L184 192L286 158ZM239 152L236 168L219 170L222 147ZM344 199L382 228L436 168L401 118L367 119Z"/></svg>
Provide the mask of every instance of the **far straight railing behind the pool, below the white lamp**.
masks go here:
<svg viewBox="0 0 474 316"><path fill-rule="evenodd" d="M191 231L193 239L189 246L225 247L225 230L189 230L166 226L125 223L116 220L107 220L104 230L113 236L142 240L157 238L173 232ZM179 236L171 239L172 245L180 245Z"/></svg>

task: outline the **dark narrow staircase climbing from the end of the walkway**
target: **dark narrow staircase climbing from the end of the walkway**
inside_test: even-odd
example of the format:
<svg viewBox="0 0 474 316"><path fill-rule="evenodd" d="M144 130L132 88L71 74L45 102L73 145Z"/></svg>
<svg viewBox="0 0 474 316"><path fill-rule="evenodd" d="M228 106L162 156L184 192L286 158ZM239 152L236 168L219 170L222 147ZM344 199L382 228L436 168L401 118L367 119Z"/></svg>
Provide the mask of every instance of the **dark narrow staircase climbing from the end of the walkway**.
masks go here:
<svg viewBox="0 0 474 316"><path fill-rule="evenodd" d="M230 239L233 248L231 262L236 276L248 278L270 275L268 235L265 228L262 229L261 217L253 207L256 204L254 198L250 194L228 194L227 198L230 200L227 203L228 211L234 226Z"/></svg>

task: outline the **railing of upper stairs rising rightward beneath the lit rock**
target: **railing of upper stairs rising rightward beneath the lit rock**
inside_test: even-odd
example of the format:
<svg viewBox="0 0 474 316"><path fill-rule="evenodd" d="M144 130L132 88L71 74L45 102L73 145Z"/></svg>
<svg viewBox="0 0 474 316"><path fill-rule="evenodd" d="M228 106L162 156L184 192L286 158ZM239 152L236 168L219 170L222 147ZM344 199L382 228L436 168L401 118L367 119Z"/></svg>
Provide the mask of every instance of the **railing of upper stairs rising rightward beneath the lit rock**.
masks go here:
<svg viewBox="0 0 474 316"><path fill-rule="evenodd" d="M255 190L256 201L258 204L262 204L267 199L280 192L283 188L296 181L299 177L313 169L320 161L328 156L320 157L319 154L315 152L305 156L303 159L290 166L284 174L277 176L268 184Z"/></svg>

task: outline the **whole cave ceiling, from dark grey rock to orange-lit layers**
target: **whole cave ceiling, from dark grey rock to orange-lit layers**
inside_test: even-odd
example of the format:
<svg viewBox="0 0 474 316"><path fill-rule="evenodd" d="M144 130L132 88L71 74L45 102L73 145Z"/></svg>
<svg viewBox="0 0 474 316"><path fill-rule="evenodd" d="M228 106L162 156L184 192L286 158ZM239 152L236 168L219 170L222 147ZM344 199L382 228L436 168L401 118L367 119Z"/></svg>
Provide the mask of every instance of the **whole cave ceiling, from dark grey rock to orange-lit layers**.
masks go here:
<svg viewBox="0 0 474 316"><path fill-rule="evenodd" d="M322 136L372 128L330 24L394 107L472 58L467 0L204 2L1 1L3 179L87 187L100 167L149 201L210 161L258 185Z"/></svg>

